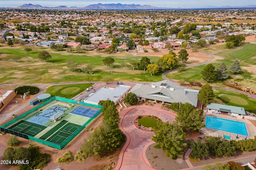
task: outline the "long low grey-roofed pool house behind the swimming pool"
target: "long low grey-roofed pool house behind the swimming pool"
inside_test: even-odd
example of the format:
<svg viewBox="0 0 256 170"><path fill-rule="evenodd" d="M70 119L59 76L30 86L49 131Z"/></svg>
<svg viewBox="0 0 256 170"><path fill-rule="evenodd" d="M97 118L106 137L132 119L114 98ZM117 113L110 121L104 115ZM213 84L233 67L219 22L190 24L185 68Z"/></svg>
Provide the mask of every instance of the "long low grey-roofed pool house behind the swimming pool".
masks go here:
<svg viewBox="0 0 256 170"><path fill-rule="evenodd" d="M231 117L237 117L238 119L243 119L245 116L244 107L211 103L208 104L206 108L208 109L208 113L230 115Z"/></svg>

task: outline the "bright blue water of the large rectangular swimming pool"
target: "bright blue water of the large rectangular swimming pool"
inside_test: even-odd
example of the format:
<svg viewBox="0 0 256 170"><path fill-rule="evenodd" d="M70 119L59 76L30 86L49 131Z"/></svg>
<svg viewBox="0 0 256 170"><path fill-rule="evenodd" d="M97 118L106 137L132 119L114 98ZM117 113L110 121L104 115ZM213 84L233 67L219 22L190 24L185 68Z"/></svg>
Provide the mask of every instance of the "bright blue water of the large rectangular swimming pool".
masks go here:
<svg viewBox="0 0 256 170"><path fill-rule="evenodd" d="M248 136L244 122L221 119L218 117L206 116L206 127L220 131L231 132Z"/></svg>

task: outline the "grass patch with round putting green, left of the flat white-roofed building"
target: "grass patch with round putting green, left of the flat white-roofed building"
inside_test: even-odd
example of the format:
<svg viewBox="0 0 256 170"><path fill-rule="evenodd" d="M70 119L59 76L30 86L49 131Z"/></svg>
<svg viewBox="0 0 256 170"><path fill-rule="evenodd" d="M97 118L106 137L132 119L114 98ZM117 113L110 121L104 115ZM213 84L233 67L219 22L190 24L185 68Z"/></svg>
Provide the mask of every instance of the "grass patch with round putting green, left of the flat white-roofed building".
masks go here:
<svg viewBox="0 0 256 170"><path fill-rule="evenodd" d="M89 88L92 85L92 83L88 83L50 86L46 89L45 93L49 93L51 94L51 96L59 96L62 98L71 99L74 96L78 95L80 92L84 92L86 88Z"/></svg>

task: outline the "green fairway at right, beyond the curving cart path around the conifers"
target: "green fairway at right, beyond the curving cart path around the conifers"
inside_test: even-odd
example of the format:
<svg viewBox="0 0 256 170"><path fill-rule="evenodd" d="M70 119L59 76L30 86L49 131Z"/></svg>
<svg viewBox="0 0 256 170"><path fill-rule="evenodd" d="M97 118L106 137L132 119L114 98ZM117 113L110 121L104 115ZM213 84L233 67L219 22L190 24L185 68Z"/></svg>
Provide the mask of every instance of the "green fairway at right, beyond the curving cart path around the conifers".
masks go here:
<svg viewBox="0 0 256 170"><path fill-rule="evenodd" d="M243 47L240 47L238 49L231 49L226 50L223 52L220 52L217 54L218 56L223 57L221 60L217 60L214 63L212 63L215 68L218 68L220 63L225 62L226 66L229 67L233 63L235 59L238 59L240 61L240 66L248 66L252 64L256 64L256 44L250 44L247 43ZM206 83L202 79L201 71L204 69L206 65L202 66L196 66L192 68L188 68L182 72L171 72L166 75L167 78L180 80L184 79L185 82L202 82ZM232 73L230 73L232 74ZM244 80L244 79L252 79L256 80L255 77L251 76L252 73L250 72L242 72L238 74L239 76L242 76L242 78L236 79L236 81ZM218 82L218 81L216 81Z"/></svg>

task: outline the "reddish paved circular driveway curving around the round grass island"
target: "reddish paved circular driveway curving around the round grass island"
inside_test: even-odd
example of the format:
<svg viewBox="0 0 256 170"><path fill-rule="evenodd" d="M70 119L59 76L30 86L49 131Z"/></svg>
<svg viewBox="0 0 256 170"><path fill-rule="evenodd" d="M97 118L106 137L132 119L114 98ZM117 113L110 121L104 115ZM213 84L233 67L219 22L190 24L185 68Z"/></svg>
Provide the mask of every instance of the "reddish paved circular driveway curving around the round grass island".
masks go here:
<svg viewBox="0 0 256 170"><path fill-rule="evenodd" d="M175 115L161 109L161 104L155 106L132 106L120 111L120 126L127 137L126 144L122 149L116 170L152 170L146 158L145 145L152 142L153 132L138 129L134 125L134 120L139 115L154 115L162 121L172 123Z"/></svg>

